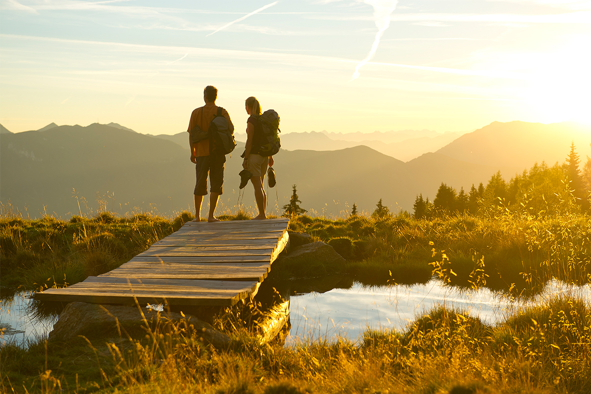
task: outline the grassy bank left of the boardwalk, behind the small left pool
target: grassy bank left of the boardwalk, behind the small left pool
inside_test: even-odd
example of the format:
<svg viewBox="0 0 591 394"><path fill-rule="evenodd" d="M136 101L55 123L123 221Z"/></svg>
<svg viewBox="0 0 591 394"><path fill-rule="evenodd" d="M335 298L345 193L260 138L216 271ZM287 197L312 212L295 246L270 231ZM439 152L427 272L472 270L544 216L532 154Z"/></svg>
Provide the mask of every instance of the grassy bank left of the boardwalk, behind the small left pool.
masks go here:
<svg viewBox="0 0 591 394"><path fill-rule="evenodd" d="M67 221L4 216L0 218L3 296L11 296L17 288L64 286L111 271L191 219L187 212L173 220L148 214L116 217L109 212Z"/></svg>

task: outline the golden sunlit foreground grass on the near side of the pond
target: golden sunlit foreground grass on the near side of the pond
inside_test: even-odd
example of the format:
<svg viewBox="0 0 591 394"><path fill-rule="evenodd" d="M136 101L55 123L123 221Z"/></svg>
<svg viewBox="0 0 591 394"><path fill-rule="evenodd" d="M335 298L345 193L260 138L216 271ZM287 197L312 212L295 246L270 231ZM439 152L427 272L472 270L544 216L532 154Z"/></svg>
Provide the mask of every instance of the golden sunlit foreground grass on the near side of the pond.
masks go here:
<svg viewBox="0 0 591 394"><path fill-rule="evenodd" d="M2 348L3 392L82 393L585 393L591 384L591 305L574 295L491 326L435 308L406 330L367 330L283 347L261 345L236 309L218 351L184 321L137 337ZM220 321L219 324L222 322Z"/></svg>

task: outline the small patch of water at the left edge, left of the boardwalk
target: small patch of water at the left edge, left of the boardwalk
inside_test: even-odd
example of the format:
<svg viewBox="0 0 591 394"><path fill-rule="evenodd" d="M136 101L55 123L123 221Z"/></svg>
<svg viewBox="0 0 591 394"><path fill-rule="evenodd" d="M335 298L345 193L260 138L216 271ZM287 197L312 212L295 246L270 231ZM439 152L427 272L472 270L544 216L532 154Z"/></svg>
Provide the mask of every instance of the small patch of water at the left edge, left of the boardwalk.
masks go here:
<svg viewBox="0 0 591 394"><path fill-rule="evenodd" d="M0 300L0 346L17 344L27 347L30 341L47 338L57 321L57 311L39 308L32 292L17 292Z"/></svg>

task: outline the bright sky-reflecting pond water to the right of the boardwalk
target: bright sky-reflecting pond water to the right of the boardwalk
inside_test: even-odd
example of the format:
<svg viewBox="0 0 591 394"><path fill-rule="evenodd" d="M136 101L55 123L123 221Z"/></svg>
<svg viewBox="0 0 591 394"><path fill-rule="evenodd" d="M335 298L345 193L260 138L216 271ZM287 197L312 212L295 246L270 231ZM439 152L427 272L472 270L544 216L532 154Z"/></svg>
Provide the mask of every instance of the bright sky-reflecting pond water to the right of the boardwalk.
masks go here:
<svg viewBox="0 0 591 394"><path fill-rule="evenodd" d="M486 288L473 291L444 286L434 279L427 284L397 286L364 286L356 282L349 289L291 297L291 329L285 344L319 338L330 341L337 336L356 341L368 327L404 330L418 314L439 305L469 311L494 324L517 308L561 292L591 298L590 285L576 287L558 281L548 282L543 294L527 300L511 299Z"/></svg>

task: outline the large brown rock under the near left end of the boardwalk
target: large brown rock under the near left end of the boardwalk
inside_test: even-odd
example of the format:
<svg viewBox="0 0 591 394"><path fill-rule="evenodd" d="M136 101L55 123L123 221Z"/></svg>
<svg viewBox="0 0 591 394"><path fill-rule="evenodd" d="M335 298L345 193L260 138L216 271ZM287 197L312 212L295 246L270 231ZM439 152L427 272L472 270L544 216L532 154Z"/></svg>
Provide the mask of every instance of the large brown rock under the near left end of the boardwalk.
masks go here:
<svg viewBox="0 0 591 394"><path fill-rule="evenodd" d="M142 312L148 323L154 323L160 318L163 323L187 320L187 324L193 325L195 330L202 331L204 340L218 349L226 349L231 339L226 334L220 333L209 323L199 320L193 315L181 315L177 312L160 312L142 308ZM98 305L86 302L70 302L61 312L57 323L53 325L53 331L49 333L50 341L69 341L79 335L89 336L100 333L101 336L118 336L116 320L119 326L129 330L144 325L144 320L137 307L124 305Z"/></svg>

